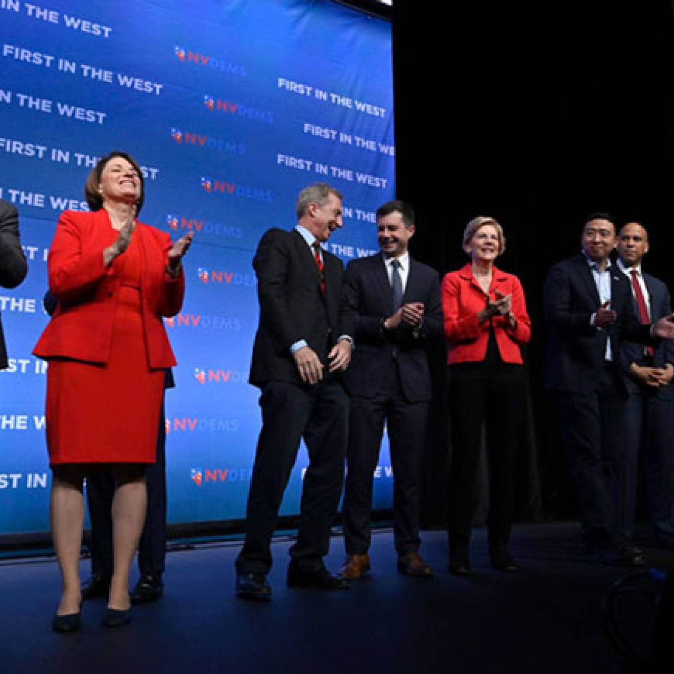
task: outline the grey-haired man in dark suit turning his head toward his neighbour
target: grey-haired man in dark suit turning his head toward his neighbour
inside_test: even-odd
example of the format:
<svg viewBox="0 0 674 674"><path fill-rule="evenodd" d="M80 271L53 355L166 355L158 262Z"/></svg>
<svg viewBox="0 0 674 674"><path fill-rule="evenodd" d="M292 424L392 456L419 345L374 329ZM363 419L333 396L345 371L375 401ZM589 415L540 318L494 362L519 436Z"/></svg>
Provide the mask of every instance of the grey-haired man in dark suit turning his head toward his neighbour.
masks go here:
<svg viewBox="0 0 674 674"><path fill-rule="evenodd" d="M348 316L340 315L342 262L321 248L342 226L342 195L326 183L305 187L297 218L293 231L270 229L253 259L259 326L249 381L262 390L262 430L236 562L243 599L271 598L270 542L302 438L309 467L288 586L348 588L323 561L344 481L348 395L340 372L353 341Z"/></svg>

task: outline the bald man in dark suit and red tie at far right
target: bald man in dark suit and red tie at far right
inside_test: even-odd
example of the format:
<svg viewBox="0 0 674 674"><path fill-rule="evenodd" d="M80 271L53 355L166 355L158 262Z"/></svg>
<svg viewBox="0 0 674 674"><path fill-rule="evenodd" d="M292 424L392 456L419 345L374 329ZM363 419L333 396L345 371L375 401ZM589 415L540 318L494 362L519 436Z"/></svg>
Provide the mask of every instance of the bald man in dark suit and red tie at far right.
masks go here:
<svg viewBox="0 0 674 674"><path fill-rule="evenodd" d="M642 323L671 313L669 290L661 281L642 272L648 252L648 233L638 222L628 222L618 235L617 267L632 287L634 311ZM638 456L644 451L648 510L656 543L674 549L674 344L656 348L623 342L622 360L627 367L627 435L625 456L617 464L616 531L629 541L634 534Z"/></svg>

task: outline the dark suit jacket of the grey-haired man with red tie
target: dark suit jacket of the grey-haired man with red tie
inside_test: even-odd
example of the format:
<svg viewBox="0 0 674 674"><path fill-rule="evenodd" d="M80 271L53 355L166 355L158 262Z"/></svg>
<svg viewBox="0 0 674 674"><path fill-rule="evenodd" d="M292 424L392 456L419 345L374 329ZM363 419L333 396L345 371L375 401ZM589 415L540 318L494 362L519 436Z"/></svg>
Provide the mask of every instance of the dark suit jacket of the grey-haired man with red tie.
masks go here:
<svg viewBox="0 0 674 674"><path fill-rule="evenodd" d="M326 294L316 261L297 231L270 229L260 240L253 258L257 275L259 326L253 344L249 381L262 387L268 381L303 385L290 346L306 340L328 373L328 353L352 326L340 314L342 261L322 252Z"/></svg>

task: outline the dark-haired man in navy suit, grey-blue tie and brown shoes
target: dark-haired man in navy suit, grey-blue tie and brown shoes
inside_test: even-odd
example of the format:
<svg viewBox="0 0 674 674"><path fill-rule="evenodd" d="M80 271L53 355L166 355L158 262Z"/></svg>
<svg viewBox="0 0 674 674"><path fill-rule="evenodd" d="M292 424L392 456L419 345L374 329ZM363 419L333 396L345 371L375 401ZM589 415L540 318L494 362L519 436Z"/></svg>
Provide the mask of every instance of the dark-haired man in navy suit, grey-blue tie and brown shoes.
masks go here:
<svg viewBox="0 0 674 674"><path fill-rule="evenodd" d="M342 303L353 313L355 349L344 375L351 395L344 491L345 578L370 568L372 481L384 423L394 473L394 543L398 570L430 577L419 555L421 458L431 376L425 346L443 332L437 272L412 259L415 214L400 201L377 210L381 253L355 259L344 274Z"/></svg>

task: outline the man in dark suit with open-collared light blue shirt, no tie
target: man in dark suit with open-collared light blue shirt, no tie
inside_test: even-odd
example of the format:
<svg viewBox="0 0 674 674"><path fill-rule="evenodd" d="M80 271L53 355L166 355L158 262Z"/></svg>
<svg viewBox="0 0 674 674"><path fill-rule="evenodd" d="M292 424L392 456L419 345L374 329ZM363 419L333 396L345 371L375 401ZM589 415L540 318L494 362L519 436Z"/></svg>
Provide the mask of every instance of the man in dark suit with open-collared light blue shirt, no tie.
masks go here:
<svg viewBox="0 0 674 674"><path fill-rule="evenodd" d="M545 281L547 384L555 392L586 545L607 563L638 566L640 551L615 536L612 498L625 440L621 343L672 339L674 323L670 315L642 325L634 315L630 284L609 259L617 245L610 216L590 216L581 245L582 252L555 264Z"/></svg>

